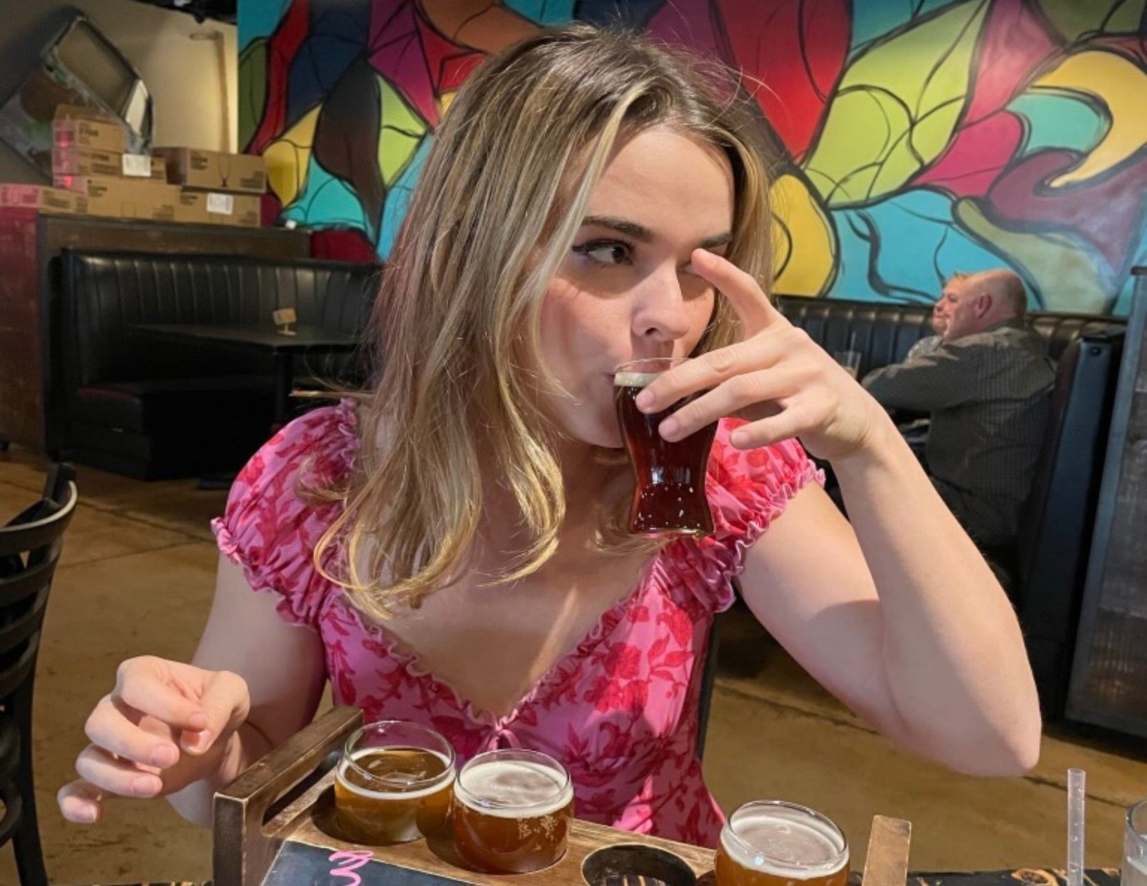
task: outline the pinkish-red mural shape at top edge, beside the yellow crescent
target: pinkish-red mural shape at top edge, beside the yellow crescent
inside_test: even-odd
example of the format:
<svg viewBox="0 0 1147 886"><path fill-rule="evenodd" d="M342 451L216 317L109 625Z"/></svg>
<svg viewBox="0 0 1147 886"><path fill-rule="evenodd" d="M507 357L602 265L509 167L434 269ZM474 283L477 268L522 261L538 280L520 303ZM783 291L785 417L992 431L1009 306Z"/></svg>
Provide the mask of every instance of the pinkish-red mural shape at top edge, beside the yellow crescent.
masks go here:
<svg viewBox="0 0 1147 886"><path fill-rule="evenodd" d="M978 123L1012 101L1036 68L1060 48L1032 6L1024 0L992 3L980 41L980 64L965 125Z"/></svg>

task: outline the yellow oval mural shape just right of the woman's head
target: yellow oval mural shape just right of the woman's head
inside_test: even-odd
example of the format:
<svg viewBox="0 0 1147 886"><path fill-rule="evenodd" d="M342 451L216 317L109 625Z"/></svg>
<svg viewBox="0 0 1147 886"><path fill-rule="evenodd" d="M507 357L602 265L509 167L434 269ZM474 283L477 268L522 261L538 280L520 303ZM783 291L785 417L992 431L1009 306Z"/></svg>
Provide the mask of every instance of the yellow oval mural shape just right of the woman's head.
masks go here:
<svg viewBox="0 0 1147 886"><path fill-rule="evenodd" d="M836 235L824 207L796 175L770 191L773 217L773 288L791 296L824 295L836 269Z"/></svg>

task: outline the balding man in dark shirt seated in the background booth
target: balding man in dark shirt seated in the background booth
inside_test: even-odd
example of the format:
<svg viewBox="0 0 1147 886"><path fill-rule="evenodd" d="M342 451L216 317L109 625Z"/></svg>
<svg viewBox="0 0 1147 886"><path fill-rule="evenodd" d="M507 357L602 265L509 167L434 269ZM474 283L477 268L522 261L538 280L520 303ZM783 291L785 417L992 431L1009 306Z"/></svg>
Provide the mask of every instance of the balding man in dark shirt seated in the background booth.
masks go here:
<svg viewBox="0 0 1147 886"><path fill-rule="evenodd" d="M1011 270L957 275L934 311L946 321L936 347L864 379L885 408L930 414L928 472L985 549L1015 542L1055 381L1025 309Z"/></svg>

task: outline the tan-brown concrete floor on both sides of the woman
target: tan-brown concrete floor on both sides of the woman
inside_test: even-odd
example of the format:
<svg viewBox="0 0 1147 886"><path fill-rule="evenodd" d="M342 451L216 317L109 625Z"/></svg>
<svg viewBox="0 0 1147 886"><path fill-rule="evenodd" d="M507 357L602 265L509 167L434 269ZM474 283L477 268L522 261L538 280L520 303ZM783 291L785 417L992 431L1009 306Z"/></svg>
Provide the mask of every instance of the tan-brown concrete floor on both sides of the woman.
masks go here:
<svg viewBox="0 0 1147 886"><path fill-rule="evenodd" d="M0 522L32 500L42 465L0 455ZM80 505L44 629L36 704L40 829L53 883L200 880L210 834L163 801L109 806L95 826L69 825L55 792L71 778L83 722L124 658L186 659L206 618L216 549L208 523L224 493L188 481L141 484L80 469ZM976 779L896 750L817 687L741 612L726 617L705 771L726 809L777 797L821 809L864 861L874 814L913 822L916 870L1062 867L1068 767L1087 771L1087 864L1116 867L1126 805L1147 795L1142 744L1046 737L1035 773ZM0 884L15 884L0 848Z"/></svg>

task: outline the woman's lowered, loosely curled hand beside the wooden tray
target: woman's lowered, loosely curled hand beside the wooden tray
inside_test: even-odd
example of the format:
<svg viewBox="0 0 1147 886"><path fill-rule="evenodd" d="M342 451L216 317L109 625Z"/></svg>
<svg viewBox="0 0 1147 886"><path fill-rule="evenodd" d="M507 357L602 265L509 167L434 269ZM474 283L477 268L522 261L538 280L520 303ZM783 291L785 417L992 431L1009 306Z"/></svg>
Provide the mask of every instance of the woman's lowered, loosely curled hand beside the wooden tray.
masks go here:
<svg viewBox="0 0 1147 886"><path fill-rule="evenodd" d="M228 746L250 707L247 682L227 671L151 656L124 661L87 719L92 744L76 759L79 779L60 789L60 810L95 822L110 794L158 797L217 774L229 781L237 755Z"/></svg>

